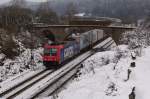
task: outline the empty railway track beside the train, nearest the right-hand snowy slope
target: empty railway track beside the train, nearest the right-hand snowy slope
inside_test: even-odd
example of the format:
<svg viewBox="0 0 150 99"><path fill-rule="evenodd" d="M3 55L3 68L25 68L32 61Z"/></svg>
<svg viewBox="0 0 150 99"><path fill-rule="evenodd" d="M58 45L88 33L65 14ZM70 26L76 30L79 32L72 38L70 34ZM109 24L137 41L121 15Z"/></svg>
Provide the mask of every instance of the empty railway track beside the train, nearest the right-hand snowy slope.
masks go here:
<svg viewBox="0 0 150 99"><path fill-rule="evenodd" d="M40 99L42 97L51 96L56 90L61 88L66 82L68 82L72 77L74 77L74 74L77 73L80 64L91 56L91 52L87 54L89 55L80 62L78 62L75 66L72 66L67 71L62 72L60 75L53 77L54 80L45 89L37 93L33 98Z"/></svg>

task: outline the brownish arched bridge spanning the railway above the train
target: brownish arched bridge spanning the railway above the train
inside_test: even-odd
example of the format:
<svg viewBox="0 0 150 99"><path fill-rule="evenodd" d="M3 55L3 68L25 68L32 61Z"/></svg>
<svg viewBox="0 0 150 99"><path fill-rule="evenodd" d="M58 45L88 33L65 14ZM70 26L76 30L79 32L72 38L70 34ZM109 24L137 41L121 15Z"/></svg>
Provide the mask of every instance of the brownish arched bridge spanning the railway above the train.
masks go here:
<svg viewBox="0 0 150 99"><path fill-rule="evenodd" d="M32 33L46 34L53 41L62 41L70 33L83 33L93 29L103 29L105 33L112 36L116 43L121 33L131 31L136 27L127 26L103 26L103 25L43 25L34 24L31 26Z"/></svg>

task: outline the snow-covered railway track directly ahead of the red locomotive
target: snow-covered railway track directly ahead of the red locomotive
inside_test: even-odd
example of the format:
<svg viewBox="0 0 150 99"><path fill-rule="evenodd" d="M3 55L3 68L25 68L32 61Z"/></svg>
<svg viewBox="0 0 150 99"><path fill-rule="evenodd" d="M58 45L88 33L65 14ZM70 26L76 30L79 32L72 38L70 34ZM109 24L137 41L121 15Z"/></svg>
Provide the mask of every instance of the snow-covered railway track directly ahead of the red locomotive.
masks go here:
<svg viewBox="0 0 150 99"><path fill-rule="evenodd" d="M39 80L43 79L45 76L49 75L52 72L53 71L50 70L39 71L31 77L24 79L17 85L14 85L12 87L9 87L8 89L5 89L4 91L1 91L0 97L3 97L4 99L12 99L14 96L23 92L24 90L37 83Z"/></svg>

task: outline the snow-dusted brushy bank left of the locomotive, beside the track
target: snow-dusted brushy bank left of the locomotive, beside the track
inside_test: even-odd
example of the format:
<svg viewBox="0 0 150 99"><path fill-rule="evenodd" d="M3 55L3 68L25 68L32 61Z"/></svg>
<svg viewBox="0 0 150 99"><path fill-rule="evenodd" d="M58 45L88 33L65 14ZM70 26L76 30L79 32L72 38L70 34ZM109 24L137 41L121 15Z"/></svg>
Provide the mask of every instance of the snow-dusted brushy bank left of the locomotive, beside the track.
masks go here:
<svg viewBox="0 0 150 99"><path fill-rule="evenodd" d="M0 54L0 81L6 79L13 79L15 75L23 74L29 70L37 70L43 68L41 54L43 48L32 51L34 61L31 61L31 49L24 49L24 51L15 59L7 59L4 54Z"/></svg>

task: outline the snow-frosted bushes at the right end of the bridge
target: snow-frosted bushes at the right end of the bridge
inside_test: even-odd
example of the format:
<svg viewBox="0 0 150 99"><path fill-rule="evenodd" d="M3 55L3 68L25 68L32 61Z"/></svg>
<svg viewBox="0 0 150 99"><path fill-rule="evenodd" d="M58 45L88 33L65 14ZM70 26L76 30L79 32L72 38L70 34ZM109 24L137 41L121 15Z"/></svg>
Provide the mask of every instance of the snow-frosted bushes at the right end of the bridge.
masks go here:
<svg viewBox="0 0 150 99"><path fill-rule="evenodd" d="M144 19L134 31L127 31L120 38L121 44L128 44L129 49L142 48L150 45L150 20Z"/></svg>

